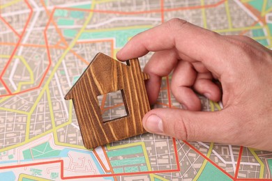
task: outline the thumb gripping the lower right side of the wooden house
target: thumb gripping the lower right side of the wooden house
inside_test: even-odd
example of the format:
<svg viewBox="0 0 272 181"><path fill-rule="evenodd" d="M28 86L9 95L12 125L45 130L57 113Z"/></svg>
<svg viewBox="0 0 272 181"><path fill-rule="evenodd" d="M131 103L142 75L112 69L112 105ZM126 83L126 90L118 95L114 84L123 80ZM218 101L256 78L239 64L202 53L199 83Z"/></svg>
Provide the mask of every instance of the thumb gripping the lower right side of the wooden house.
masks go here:
<svg viewBox="0 0 272 181"><path fill-rule="evenodd" d="M235 123L224 115L224 110L204 112L153 109L144 116L143 125L148 132L180 140L233 143L235 129L232 127Z"/></svg>

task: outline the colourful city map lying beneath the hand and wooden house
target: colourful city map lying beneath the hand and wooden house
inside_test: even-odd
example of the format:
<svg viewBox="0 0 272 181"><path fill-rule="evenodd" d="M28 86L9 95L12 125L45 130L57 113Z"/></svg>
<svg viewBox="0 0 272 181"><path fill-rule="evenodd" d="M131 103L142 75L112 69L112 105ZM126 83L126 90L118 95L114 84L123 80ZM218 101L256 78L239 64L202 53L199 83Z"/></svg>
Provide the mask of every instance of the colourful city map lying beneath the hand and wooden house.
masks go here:
<svg viewBox="0 0 272 181"><path fill-rule="evenodd" d="M237 145L146 133L84 148L66 93L98 52L115 57L131 37L172 17L272 47L272 0L1 0L0 180L272 178L272 152ZM139 58L141 68L151 54ZM171 79L163 77L155 107L182 108ZM200 98L203 111L222 109ZM98 97L105 120L126 116L120 99Z"/></svg>

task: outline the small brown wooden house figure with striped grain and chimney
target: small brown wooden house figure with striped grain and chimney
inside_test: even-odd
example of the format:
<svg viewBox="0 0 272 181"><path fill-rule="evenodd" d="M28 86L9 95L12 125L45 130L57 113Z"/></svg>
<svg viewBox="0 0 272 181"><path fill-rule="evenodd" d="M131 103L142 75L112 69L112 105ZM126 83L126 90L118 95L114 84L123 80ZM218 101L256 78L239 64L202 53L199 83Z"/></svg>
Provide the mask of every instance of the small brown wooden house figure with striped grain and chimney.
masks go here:
<svg viewBox="0 0 272 181"><path fill-rule="evenodd" d="M142 118L150 110L144 85L149 75L142 72L137 58L126 63L98 53L65 96L66 100L73 100L86 148L96 148L146 132ZM98 95L119 90L123 90L128 115L103 123Z"/></svg>

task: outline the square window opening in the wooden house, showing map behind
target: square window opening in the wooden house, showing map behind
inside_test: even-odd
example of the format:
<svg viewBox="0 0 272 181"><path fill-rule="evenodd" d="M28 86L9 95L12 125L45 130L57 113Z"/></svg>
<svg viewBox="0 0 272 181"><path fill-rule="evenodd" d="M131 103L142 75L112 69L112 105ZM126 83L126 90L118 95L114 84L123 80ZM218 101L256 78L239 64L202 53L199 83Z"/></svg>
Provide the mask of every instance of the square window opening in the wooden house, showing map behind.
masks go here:
<svg viewBox="0 0 272 181"><path fill-rule="evenodd" d="M123 90L98 95L98 102L103 118L103 123L116 120L129 115Z"/></svg>

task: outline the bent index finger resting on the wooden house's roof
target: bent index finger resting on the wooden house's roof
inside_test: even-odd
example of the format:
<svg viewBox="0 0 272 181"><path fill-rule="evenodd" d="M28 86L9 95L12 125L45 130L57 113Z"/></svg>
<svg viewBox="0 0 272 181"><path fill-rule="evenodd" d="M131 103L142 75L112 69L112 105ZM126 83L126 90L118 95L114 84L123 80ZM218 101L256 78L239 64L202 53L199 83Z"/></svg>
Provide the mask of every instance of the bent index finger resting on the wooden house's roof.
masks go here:
<svg viewBox="0 0 272 181"><path fill-rule="evenodd" d="M148 52L176 49L187 61L201 61L212 72L225 69L229 42L213 31L182 19L172 19L133 37L117 54L121 61L144 56Z"/></svg>

